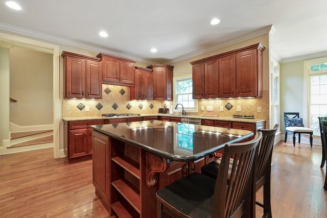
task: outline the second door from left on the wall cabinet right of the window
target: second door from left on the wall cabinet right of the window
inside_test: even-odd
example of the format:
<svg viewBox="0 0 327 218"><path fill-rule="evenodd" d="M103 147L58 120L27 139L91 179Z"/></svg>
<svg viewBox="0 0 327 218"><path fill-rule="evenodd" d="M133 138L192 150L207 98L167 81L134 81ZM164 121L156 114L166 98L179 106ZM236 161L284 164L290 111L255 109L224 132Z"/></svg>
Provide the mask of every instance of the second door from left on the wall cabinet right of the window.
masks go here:
<svg viewBox="0 0 327 218"><path fill-rule="evenodd" d="M218 59L204 62L204 98L218 98Z"/></svg>

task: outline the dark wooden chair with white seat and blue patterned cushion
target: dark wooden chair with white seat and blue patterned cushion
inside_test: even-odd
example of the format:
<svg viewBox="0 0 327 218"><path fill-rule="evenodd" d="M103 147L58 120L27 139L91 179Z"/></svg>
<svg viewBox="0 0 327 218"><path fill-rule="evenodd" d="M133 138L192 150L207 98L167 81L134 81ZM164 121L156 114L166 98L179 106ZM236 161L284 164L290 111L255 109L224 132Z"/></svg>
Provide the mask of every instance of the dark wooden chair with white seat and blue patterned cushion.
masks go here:
<svg viewBox="0 0 327 218"><path fill-rule="evenodd" d="M301 142L300 134L310 134L310 146L312 147L312 134L313 129L306 128L303 125L303 119L299 117L299 112L284 112L284 124L285 124L285 139L287 139L287 133L293 134L293 146L295 146L295 134L298 134L298 143Z"/></svg>

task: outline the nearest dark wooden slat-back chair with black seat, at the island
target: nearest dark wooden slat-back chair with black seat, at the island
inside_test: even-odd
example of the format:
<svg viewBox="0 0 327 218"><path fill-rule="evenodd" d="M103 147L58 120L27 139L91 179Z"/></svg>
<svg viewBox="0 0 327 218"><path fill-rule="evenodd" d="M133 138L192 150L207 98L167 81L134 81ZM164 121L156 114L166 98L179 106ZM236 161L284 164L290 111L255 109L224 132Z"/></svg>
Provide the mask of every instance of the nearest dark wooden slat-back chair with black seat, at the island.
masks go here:
<svg viewBox="0 0 327 218"><path fill-rule="evenodd" d="M193 173L156 192L157 218L250 217L254 157L262 133L251 141L226 144L218 178ZM230 156L235 155L228 179Z"/></svg>

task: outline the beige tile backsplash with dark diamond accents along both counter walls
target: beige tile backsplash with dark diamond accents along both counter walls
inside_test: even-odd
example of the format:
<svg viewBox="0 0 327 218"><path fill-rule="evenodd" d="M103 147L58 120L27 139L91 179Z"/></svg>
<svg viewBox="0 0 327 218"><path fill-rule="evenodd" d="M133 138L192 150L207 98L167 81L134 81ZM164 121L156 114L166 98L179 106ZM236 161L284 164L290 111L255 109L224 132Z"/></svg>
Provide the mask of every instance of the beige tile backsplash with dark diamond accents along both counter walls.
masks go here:
<svg viewBox="0 0 327 218"><path fill-rule="evenodd" d="M158 113L159 108L170 108L172 101L130 101L129 87L102 84L102 99L99 100L71 100L63 99L63 117L101 116L103 113ZM86 111L88 106L89 111ZM175 105L174 105L175 106ZM254 115L256 118L269 120L269 90L263 91L262 98L255 99L220 99L199 100L199 112L189 113L200 115L203 113L217 113L218 116ZM203 106L204 111L201 111ZM207 106L213 106L213 111L207 111ZM223 111L220 111L223 106ZM237 111L241 106L241 112ZM261 107L262 112L257 112Z"/></svg>

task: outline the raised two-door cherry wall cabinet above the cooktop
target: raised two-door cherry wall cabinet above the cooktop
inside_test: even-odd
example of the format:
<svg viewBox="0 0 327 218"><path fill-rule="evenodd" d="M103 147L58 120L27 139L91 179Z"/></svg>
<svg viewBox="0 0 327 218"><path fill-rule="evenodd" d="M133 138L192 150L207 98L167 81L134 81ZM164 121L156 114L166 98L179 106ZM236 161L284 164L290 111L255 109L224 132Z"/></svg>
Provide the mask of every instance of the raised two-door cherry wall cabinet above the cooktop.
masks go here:
<svg viewBox="0 0 327 218"><path fill-rule="evenodd" d="M136 61L100 53L102 59L102 82L112 85L134 86L134 64Z"/></svg>

